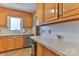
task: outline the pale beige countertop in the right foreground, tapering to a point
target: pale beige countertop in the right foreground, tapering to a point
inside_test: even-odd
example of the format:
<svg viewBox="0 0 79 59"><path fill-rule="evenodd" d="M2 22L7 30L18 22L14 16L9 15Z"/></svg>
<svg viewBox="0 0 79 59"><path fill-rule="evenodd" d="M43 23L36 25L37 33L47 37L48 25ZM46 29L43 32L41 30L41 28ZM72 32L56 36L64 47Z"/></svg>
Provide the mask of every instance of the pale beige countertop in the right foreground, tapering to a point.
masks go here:
<svg viewBox="0 0 79 59"><path fill-rule="evenodd" d="M32 36L31 38L61 56L79 56L77 43L44 36Z"/></svg>

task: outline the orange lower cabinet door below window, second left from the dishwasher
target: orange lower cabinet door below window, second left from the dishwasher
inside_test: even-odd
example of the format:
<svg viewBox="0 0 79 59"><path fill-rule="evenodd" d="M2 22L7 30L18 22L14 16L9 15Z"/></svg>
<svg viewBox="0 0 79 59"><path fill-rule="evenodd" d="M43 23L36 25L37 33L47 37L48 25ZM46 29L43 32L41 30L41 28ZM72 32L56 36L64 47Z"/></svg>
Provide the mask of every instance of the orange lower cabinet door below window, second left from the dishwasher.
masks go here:
<svg viewBox="0 0 79 59"><path fill-rule="evenodd" d="M13 37L7 37L6 40L6 50L15 49L15 39Z"/></svg>

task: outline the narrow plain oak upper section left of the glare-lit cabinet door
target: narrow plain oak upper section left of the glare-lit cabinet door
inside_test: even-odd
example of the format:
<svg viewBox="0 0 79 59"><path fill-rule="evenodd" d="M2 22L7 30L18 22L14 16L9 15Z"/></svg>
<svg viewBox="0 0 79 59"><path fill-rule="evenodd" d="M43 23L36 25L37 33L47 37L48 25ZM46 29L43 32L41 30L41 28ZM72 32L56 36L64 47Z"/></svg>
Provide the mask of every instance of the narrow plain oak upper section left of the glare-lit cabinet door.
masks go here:
<svg viewBox="0 0 79 59"><path fill-rule="evenodd" d="M44 4L38 3L36 6L36 20L39 21L40 24L43 23L43 14L44 14Z"/></svg>

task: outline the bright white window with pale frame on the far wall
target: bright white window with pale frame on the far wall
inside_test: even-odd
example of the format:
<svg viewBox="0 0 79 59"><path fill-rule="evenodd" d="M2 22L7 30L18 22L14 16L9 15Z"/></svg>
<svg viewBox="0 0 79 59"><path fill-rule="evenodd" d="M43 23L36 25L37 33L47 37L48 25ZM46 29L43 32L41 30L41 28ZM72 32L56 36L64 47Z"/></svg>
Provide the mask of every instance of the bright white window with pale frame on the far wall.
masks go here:
<svg viewBox="0 0 79 59"><path fill-rule="evenodd" d="M22 18L9 16L9 28L10 30L21 30Z"/></svg>

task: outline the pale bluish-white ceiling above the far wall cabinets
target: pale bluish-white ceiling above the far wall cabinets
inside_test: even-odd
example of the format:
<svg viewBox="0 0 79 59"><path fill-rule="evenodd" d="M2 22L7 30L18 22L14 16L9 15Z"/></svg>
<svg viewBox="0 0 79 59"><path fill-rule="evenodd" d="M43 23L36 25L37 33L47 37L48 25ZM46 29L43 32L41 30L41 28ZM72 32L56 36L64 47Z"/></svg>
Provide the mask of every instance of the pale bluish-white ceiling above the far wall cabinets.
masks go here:
<svg viewBox="0 0 79 59"><path fill-rule="evenodd" d="M30 13L33 13L36 9L35 3L0 3L0 6Z"/></svg>

